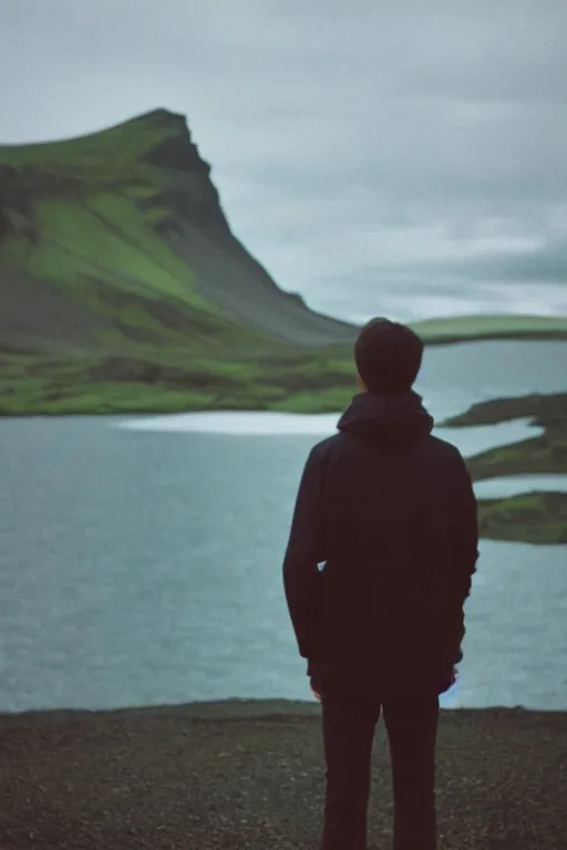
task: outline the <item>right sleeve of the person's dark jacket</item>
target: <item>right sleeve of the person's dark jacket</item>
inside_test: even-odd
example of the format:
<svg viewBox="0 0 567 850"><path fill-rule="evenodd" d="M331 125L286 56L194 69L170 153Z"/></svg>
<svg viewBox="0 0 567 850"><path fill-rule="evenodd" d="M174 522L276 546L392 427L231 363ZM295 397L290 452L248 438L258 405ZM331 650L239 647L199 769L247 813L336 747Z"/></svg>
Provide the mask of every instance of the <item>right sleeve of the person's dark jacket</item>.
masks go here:
<svg viewBox="0 0 567 850"><path fill-rule="evenodd" d="M476 496L463 457L458 456L453 485L452 546L449 572L450 612L447 644L452 661L463 660L461 643L465 635L464 603L471 593L473 574L478 560L478 520Z"/></svg>

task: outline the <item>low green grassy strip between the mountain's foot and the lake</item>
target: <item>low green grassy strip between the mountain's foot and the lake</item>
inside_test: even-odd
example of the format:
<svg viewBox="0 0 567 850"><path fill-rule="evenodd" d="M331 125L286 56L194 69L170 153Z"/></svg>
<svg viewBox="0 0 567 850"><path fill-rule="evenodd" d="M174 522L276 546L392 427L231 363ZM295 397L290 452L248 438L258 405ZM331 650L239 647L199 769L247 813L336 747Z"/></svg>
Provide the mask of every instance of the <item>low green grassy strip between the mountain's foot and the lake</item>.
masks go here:
<svg viewBox="0 0 567 850"><path fill-rule="evenodd" d="M306 392L307 379L297 366L292 380L281 381L279 359L265 360L264 380L258 381L254 359L239 359L238 350L229 359L210 353L192 356L173 348L132 345L131 353L117 349L104 355L97 351L61 359L4 355L0 359L0 413L107 413L109 404L117 413L200 410L199 404L205 410L321 413L339 411L357 392L353 372L343 388L327 385L320 392Z"/></svg>

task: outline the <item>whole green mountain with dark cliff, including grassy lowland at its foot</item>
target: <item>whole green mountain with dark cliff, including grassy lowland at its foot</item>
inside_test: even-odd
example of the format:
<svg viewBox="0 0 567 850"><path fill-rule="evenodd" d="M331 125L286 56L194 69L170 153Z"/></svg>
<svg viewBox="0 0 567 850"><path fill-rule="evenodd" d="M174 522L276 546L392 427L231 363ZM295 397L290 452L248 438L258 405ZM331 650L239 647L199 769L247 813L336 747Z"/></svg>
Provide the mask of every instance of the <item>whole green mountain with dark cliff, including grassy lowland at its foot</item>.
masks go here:
<svg viewBox="0 0 567 850"><path fill-rule="evenodd" d="M0 413L300 407L354 334L234 238L182 116L0 147Z"/></svg>

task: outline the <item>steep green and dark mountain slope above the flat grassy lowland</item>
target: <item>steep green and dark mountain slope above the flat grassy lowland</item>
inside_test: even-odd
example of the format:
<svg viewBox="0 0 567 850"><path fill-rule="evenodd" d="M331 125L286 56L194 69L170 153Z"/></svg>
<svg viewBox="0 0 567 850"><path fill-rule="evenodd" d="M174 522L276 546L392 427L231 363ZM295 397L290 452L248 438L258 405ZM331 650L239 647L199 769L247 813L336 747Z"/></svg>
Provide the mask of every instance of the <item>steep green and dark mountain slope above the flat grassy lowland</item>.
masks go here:
<svg viewBox="0 0 567 850"><path fill-rule="evenodd" d="M183 116L165 111L0 147L0 346L237 342L243 325L351 341L352 325L279 290L235 239L209 170Z"/></svg>

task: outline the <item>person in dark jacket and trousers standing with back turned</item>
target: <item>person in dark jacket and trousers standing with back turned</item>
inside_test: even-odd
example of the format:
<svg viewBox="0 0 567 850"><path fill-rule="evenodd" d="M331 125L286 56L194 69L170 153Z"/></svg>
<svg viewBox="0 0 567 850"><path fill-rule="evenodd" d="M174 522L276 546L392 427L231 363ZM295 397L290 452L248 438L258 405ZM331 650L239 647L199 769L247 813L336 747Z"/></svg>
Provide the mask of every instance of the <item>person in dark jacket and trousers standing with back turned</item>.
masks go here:
<svg viewBox="0 0 567 850"><path fill-rule="evenodd" d="M321 850L365 850L371 754L383 713L394 850L435 850L439 696L463 659L464 602L478 559L477 505L458 449L432 435L412 388L423 341L372 319L359 333L360 392L311 449L284 585L321 699Z"/></svg>

